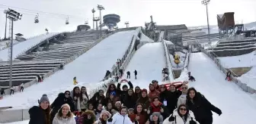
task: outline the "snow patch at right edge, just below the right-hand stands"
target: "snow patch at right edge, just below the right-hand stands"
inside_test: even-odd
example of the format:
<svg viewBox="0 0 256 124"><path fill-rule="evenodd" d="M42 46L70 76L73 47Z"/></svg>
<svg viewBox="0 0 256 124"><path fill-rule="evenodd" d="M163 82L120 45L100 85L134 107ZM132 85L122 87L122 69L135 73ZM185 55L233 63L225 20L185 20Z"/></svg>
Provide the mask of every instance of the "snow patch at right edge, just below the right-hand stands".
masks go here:
<svg viewBox="0 0 256 124"><path fill-rule="evenodd" d="M218 57L223 67L254 67L256 66L256 52L232 57Z"/></svg>

